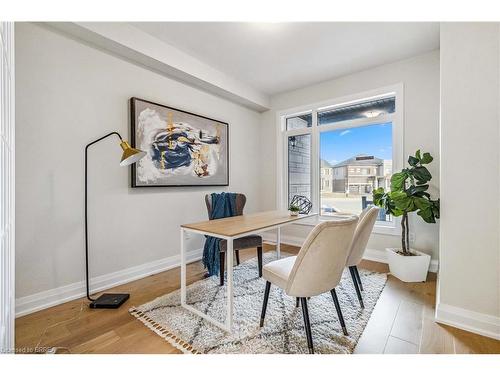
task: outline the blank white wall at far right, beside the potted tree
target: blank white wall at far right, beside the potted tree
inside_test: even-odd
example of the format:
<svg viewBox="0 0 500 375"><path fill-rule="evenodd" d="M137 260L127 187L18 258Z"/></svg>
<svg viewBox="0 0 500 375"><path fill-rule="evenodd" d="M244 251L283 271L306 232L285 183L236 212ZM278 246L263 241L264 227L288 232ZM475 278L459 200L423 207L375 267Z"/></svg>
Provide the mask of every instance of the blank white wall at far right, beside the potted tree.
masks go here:
<svg viewBox="0 0 500 375"><path fill-rule="evenodd" d="M438 321L500 339L498 23L441 25ZM464 177L468 181L462 185Z"/></svg>

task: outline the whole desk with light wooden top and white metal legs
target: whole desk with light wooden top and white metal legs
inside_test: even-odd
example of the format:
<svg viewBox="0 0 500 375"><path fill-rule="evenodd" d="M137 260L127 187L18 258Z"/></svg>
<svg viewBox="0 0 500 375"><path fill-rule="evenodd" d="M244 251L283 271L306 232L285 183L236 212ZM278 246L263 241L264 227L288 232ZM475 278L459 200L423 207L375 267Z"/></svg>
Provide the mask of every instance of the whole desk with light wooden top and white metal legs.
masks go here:
<svg viewBox="0 0 500 375"><path fill-rule="evenodd" d="M227 217L224 219L207 220L193 224L181 225L181 305L194 314L208 320L217 327L231 332L233 326L233 241L259 232L277 229L276 252L280 257L280 229L282 226L316 216L316 214L291 216L288 211L267 211L250 215ZM225 323L219 322L207 314L186 303L186 249L184 236L186 232L194 232L227 241L227 315ZM224 270L221 270L224 272Z"/></svg>

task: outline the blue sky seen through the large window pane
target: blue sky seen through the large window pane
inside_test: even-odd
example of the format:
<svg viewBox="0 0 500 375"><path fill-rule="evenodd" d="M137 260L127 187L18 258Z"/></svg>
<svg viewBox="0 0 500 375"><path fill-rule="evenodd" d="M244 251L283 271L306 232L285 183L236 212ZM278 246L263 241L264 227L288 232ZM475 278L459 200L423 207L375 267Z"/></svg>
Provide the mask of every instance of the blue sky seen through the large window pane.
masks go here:
<svg viewBox="0 0 500 375"><path fill-rule="evenodd" d="M392 123L320 133L320 153L332 165L358 154L392 159Z"/></svg>

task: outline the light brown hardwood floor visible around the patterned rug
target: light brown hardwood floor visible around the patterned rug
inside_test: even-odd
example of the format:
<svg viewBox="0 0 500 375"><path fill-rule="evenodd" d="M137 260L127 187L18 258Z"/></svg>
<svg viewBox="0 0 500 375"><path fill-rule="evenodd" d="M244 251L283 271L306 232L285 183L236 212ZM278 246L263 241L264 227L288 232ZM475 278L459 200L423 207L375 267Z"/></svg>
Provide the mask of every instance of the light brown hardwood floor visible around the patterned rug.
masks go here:
<svg viewBox="0 0 500 375"><path fill-rule="evenodd" d="M265 245L264 250L274 247ZM282 245L296 253L297 248ZM255 250L240 252L241 261ZM363 261L361 268L388 272L387 265ZM203 277L200 262L188 265L188 283ZM403 283L389 275L387 285L361 336L355 353L500 353L500 341L433 321L436 281ZM84 298L16 319L16 347L57 353L180 353L128 313L179 288L180 269L149 276L109 291L126 291L130 299L118 310L91 310Z"/></svg>

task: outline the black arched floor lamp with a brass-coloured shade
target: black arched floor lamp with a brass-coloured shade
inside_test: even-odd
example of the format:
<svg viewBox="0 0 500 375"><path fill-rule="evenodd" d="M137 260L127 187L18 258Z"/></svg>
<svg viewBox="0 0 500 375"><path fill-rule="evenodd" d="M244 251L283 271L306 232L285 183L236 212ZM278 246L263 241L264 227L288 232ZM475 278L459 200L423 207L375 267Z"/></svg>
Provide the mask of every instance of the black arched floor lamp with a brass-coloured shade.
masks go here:
<svg viewBox="0 0 500 375"><path fill-rule="evenodd" d="M118 136L118 138L120 138L120 146L123 149L120 166L126 167L139 161L146 155L144 151L137 150L131 147L128 142L124 141L121 135L117 132L106 134L104 137L96 139L95 141L90 142L87 146L85 146L85 281L87 283L87 299L90 301L91 309L116 309L130 297L130 294L124 293L104 293L97 299L92 299L90 298L89 291L89 236L87 229L87 152L90 146L112 135L116 135Z"/></svg>

